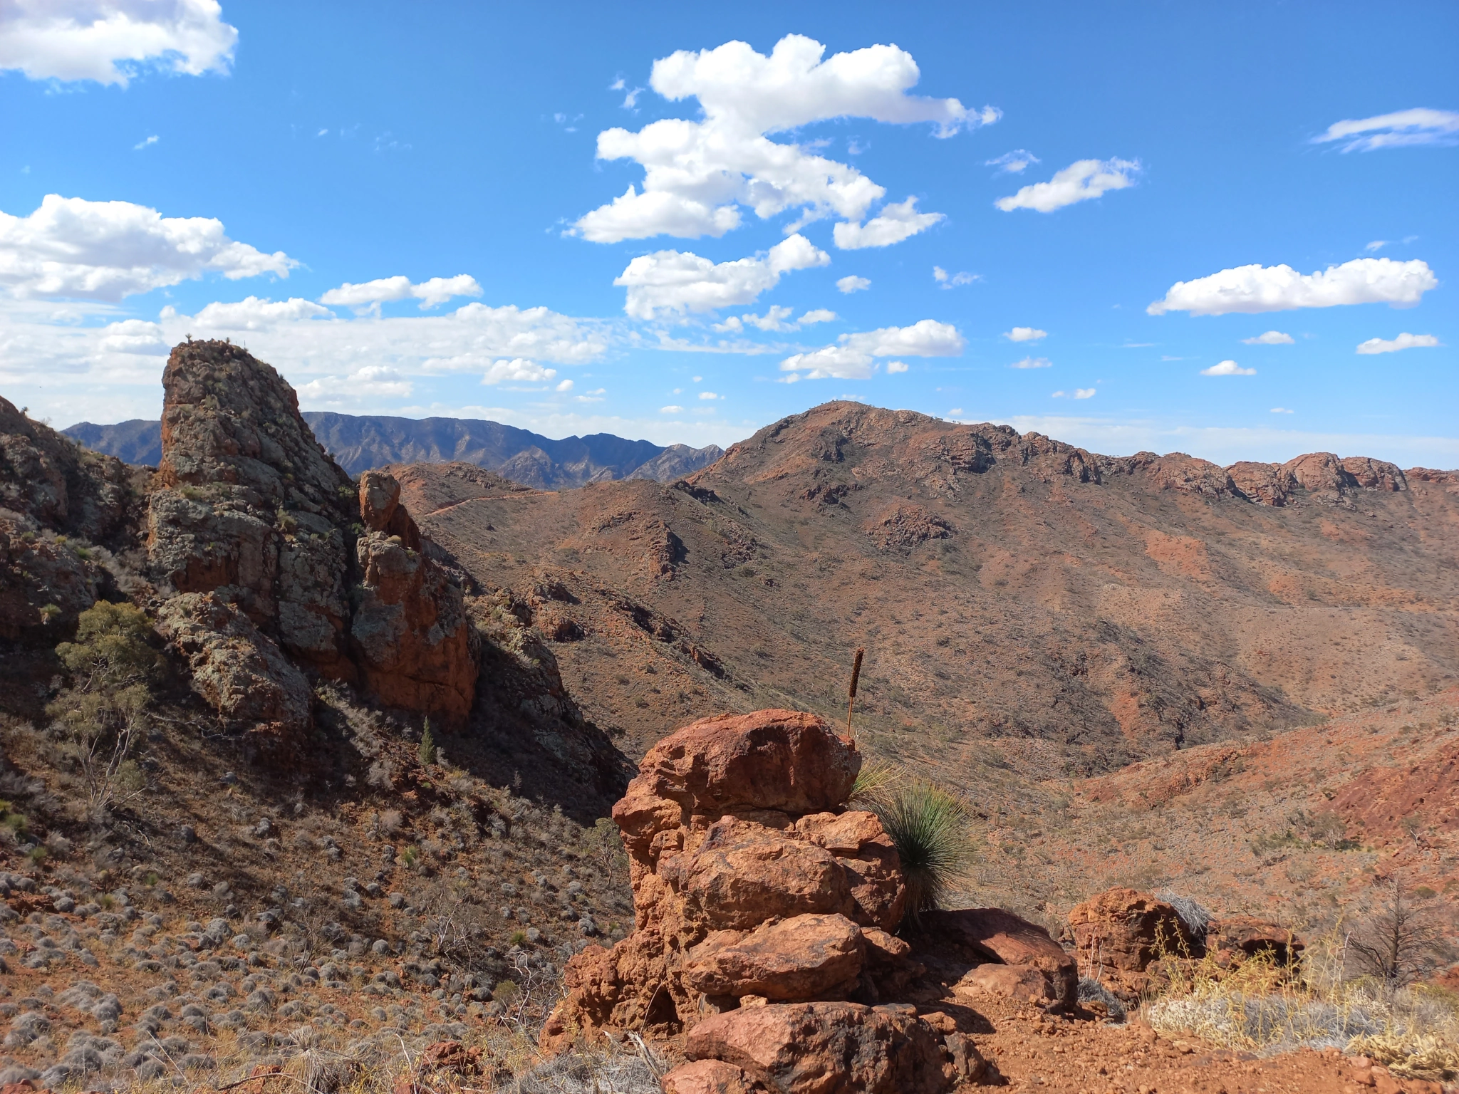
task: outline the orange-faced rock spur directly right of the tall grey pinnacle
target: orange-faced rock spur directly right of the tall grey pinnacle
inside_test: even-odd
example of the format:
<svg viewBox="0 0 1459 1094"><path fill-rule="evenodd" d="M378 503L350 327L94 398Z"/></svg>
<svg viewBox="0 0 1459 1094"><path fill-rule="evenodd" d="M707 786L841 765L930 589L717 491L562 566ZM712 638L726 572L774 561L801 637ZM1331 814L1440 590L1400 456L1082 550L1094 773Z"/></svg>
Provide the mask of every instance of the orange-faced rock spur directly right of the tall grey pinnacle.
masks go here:
<svg viewBox="0 0 1459 1094"><path fill-rule="evenodd" d="M360 478L355 550L362 581L350 623L368 693L461 725L476 697L476 649L460 586L426 554L400 505L400 483L381 471Z"/></svg>

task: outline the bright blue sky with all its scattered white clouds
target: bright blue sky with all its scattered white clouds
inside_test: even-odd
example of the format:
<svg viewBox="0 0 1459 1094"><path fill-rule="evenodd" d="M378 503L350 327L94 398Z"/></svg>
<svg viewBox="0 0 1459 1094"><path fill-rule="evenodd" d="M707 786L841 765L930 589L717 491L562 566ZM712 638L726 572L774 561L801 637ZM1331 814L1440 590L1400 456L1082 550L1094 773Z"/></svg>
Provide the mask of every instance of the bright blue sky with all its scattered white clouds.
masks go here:
<svg viewBox="0 0 1459 1094"><path fill-rule="evenodd" d="M305 408L554 436L852 397L1455 467L1456 39L1452 3L20 0L0 394L156 416L193 334Z"/></svg>

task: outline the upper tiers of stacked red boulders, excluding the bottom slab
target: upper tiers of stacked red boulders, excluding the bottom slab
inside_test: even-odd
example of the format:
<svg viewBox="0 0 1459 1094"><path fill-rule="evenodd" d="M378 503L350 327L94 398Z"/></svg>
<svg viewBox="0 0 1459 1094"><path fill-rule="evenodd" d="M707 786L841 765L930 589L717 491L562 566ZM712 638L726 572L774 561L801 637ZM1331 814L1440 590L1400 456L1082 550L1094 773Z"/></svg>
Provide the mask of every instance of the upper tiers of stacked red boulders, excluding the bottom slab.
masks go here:
<svg viewBox="0 0 1459 1094"><path fill-rule="evenodd" d="M613 815L638 929L568 966L547 1044L671 1033L743 996L877 998L906 980L906 904L880 821L846 810L861 756L816 715L706 718L664 738ZM872 939L871 935L877 938Z"/></svg>

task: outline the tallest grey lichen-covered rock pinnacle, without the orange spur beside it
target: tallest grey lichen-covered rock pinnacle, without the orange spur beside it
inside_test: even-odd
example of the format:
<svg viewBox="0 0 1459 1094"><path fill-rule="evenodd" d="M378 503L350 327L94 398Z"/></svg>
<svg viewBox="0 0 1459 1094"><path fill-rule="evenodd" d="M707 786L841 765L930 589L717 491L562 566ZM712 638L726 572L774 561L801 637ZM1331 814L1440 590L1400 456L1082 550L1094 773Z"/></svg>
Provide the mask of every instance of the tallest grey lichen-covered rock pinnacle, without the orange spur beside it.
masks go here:
<svg viewBox="0 0 1459 1094"><path fill-rule="evenodd" d="M162 461L149 499L155 579L238 604L308 667L346 656L355 484L299 417L293 388L239 346L188 341L162 373Z"/></svg>

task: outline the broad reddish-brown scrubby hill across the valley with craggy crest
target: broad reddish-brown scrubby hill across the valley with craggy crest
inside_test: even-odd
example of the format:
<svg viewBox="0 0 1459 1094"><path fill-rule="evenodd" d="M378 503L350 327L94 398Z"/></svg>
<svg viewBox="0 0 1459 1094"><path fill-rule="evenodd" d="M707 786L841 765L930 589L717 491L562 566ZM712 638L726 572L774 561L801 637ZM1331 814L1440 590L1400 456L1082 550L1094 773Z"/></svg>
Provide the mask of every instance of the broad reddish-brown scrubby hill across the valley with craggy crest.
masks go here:
<svg viewBox="0 0 1459 1094"><path fill-rule="evenodd" d="M1450 473L1102 457L830 403L676 486L401 474L636 751L725 706L836 716L856 646L874 747L959 780L1115 770L1459 672Z"/></svg>

